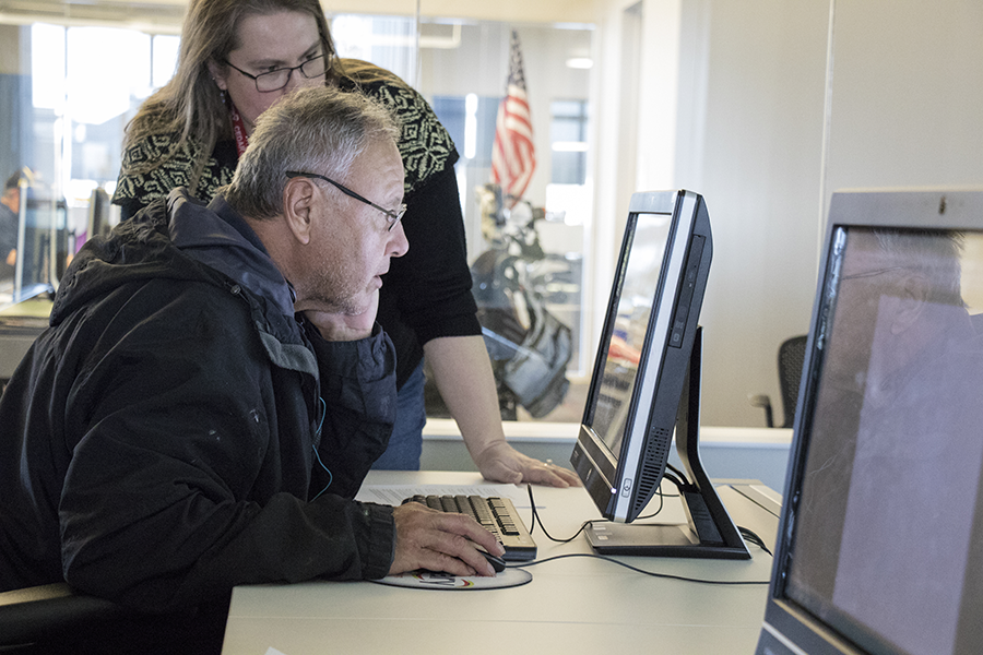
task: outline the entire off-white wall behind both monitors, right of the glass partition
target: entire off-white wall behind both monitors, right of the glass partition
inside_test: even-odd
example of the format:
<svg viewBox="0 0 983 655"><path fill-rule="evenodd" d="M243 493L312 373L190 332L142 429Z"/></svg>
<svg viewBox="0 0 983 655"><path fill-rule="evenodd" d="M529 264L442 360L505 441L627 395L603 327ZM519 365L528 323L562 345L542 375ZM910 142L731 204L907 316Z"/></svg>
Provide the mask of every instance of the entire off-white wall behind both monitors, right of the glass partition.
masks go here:
<svg viewBox="0 0 983 655"><path fill-rule="evenodd" d="M625 162L612 145L625 126L599 132L594 241L607 254L596 275L612 275L618 241L607 233L620 231L630 193L619 170L635 190L707 200L703 425L762 425L751 393L768 393L780 416L777 350L808 327L833 190L983 186L983 3L832 2L642 0L637 155ZM624 95L631 4L599 2L602 126L625 112L612 98ZM664 106L647 114L668 102L674 117Z"/></svg>

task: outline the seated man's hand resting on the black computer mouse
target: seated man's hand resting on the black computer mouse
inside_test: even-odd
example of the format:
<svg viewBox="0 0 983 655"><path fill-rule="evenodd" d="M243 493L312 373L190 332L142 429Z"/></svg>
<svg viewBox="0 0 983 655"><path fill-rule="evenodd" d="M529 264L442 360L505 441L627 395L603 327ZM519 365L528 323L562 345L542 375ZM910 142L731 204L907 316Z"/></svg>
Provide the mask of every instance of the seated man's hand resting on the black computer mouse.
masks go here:
<svg viewBox="0 0 983 655"><path fill-rule="evenodd" d="M389 573L416 569L452 575L495 575L495 569L478 551L501 557L505 549L492 533L471 516L431 510L418 502L393 509L396 528L395 556Z"/></svg>

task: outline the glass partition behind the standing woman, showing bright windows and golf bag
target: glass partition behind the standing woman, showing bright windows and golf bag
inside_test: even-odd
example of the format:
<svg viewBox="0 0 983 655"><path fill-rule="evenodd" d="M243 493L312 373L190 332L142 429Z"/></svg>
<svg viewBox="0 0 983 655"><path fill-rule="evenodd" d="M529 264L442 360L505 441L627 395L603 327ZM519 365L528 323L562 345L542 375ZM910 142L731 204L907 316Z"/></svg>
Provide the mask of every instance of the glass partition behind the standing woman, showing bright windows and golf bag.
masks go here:
<svg viewBox="0 0 983 655"><path fill-rule="evenodd" d="M481 318L501 382L504 416L579 421L576 382L592 356L584 344L581 291L592 204L593 28L418 19L413 11L411 5L407 15L329 19L342 57L371 61L404 79L430 103L457 145L475 291L496 291L485 294ZM0 116L3 130L17 134L11 143L0 141L0 175L5 179L27 167L33 176L19 217L24 285L57 286L71 255L102 229L93 226L118 221L104 201L115 190L126 124L169 80L179 44L175 16L130 28L132 12L139 13L134 7L123 12L127 22L0 24L16 44L0 49L0 90L5 105L21 98ZM521 201L509 206L490 181L513 31L536 168Z"/></svg>

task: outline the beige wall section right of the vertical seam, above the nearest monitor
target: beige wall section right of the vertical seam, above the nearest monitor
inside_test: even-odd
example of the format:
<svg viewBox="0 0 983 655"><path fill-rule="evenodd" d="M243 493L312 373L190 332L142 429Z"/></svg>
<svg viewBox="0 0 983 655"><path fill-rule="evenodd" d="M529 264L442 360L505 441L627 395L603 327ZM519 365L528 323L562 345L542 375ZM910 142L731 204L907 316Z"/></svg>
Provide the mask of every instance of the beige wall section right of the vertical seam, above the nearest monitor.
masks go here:
<svg viewBox="0 0 983 655"><path fill-rule="evenodd" d="M983 186L983 3L838 0L827 193Z"/></svg>

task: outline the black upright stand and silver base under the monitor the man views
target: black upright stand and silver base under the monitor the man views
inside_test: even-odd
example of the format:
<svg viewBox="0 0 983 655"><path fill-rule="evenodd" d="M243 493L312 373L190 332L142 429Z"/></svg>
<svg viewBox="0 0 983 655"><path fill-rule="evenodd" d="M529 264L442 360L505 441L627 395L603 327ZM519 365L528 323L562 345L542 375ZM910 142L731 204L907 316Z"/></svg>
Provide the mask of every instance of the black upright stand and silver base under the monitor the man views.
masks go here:
<svg viewBox="0 0 983 655"><path fill-rule="evenodd" d="M676 416L676 452L689 476L682 490L688 523L594 522L584 531L596 552L651 557L750 559L700 462L700 370L702 327L697 327Z"/></svg>

